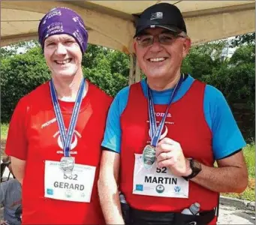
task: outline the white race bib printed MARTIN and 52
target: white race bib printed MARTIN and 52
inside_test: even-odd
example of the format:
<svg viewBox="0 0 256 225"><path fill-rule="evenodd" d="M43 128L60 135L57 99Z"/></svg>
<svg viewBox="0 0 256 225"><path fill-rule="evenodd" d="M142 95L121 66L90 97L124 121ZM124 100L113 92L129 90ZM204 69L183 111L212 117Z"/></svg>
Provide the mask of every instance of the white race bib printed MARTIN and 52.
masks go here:
<svg viewBox="0 0 256 225"><path fill-rule="evenodd" d="M167 167L157 168L156 163L151 169L143 166L142 154L135 154L134 194L188 198L188 181L173 175Z"/></svg>

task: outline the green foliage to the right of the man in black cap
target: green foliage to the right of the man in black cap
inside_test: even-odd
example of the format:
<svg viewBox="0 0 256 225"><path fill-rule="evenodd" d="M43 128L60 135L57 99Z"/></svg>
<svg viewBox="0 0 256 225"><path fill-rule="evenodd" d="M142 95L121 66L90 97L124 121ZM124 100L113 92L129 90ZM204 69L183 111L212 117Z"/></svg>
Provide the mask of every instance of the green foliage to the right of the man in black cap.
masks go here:
<svg viewBox="0 0 256 225"><path fill-rule="evenodd" d="M246 121L244 115L237 116L243 120L240 128L245 139L251 140L255 136L255 44L241 44L231 58L223 58L222 51L228 45L227 41L217 41L192 47L182 71L219 89L233 113L235 104L243 104L243 111L251 116L246 116Z"/></svg>

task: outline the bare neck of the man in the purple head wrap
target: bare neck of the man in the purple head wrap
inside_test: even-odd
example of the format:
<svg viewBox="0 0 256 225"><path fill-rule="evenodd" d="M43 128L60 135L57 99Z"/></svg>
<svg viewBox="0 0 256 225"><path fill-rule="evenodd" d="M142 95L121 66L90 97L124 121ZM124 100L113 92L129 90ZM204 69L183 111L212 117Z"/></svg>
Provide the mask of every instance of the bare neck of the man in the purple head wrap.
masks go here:
<svg viewBox="0 0 256 225"><path fill-rule="evenodd" d="M76 74L74 77L61 78L53 76L53 84L56 89L57 98L62 101L76 101L80 83L83 80L83 74ZM86 86L87 91L87 86ZM83 97L86 95L83 92Z"/></svg>

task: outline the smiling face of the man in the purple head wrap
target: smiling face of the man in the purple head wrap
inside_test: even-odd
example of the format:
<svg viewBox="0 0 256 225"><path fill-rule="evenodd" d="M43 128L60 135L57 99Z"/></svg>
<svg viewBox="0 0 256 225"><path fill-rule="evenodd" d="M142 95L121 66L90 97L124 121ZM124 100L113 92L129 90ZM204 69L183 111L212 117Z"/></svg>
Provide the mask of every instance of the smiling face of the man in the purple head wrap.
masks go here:
<svg viewBox="0 0 256 225"><path fill-rule="evenodd" d="M81 68L83 54L77 41L68 34L56 34L44 42L44 57L55 77L73 77Z"/></svg>

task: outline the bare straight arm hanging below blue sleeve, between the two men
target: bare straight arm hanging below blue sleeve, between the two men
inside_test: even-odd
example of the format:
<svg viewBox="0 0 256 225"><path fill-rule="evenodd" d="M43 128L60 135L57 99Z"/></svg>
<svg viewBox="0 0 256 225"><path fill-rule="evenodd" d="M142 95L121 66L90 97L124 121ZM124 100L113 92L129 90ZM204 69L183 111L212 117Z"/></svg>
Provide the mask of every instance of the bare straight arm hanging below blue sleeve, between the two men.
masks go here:
<svg viewBox="0 0 256 225"><path fill-rule="evenodd" d="M119 163L120 155L118 153L103 151L98 179L98 193L107 224L125 224L119 201Z"/></svg>

